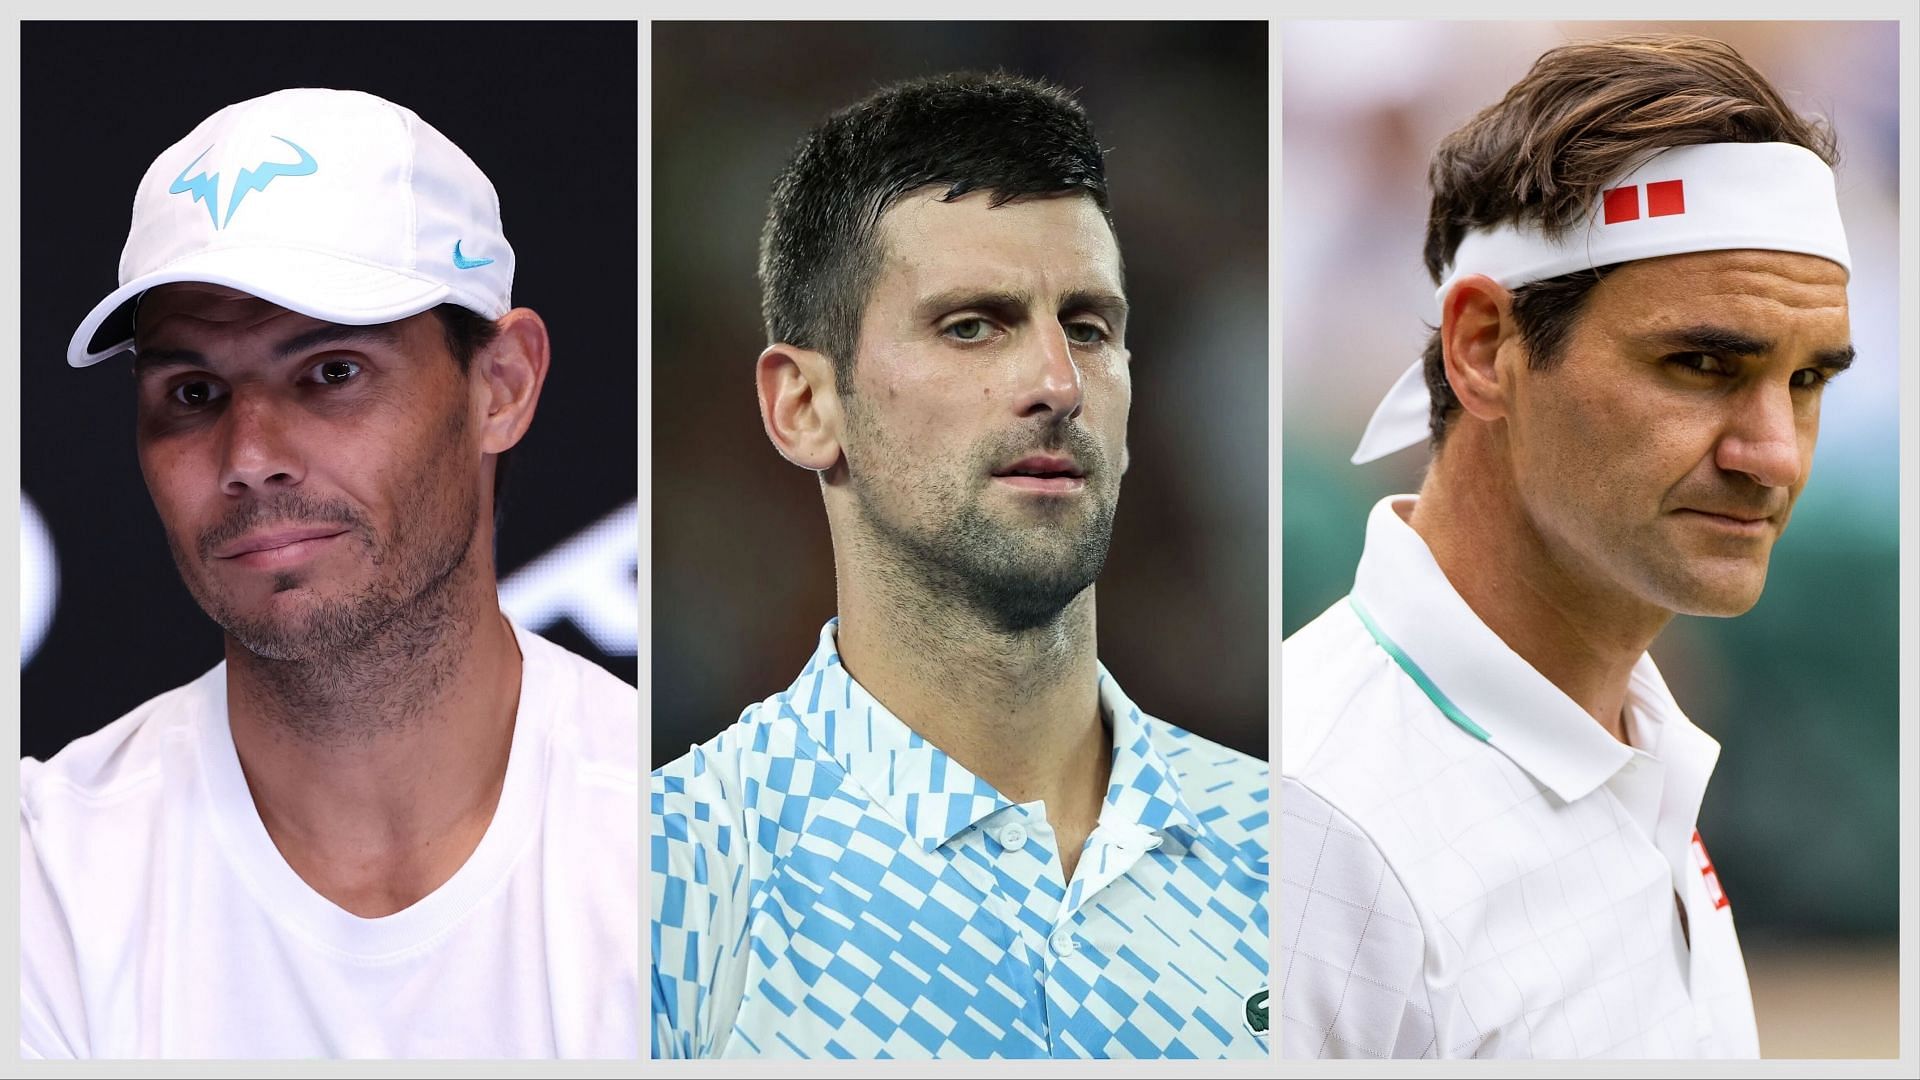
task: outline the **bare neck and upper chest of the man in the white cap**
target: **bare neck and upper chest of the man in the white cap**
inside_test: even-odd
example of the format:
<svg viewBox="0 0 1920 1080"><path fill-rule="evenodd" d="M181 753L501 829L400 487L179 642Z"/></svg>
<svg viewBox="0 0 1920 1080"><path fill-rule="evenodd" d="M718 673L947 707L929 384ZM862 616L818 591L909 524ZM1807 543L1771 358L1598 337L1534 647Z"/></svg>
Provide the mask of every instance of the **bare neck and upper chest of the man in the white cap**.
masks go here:
<svg viewBox="0 0 1920 1080"><path fill-rule="evenodd" d="M492 588L461 592L432 632L323 661L227 644L228 723L261 822L315 892L361 917L440 888L499 801L520 650Z"/></svg>

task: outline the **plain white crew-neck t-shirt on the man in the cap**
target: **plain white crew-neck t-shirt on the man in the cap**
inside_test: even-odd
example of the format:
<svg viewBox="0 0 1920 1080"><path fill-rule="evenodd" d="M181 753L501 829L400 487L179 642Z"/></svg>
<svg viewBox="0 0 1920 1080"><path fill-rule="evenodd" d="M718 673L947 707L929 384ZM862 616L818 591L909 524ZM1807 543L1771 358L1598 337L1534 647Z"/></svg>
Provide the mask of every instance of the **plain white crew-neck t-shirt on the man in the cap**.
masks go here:
<svg viewBox="0 0 1920 1080"><path fill-rule="evenodd" d="M21 1057L637 1057L639 696L515 626L493 821L384 919L253 809L227 665L21 761Z"/></svg>

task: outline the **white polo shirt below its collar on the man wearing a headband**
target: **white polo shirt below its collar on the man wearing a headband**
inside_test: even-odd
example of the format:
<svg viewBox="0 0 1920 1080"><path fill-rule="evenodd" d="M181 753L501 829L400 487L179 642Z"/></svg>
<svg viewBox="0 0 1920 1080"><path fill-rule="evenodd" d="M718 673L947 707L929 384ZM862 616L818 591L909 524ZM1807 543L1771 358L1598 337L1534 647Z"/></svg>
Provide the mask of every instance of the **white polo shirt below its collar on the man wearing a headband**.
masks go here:
<svg viewBox="0 0 1920 1080"><path fill-rule="evenodd" d="M1453 726L1338 603L1283 648L1284 1057L1728 1053L1667 861Z"/></svg>

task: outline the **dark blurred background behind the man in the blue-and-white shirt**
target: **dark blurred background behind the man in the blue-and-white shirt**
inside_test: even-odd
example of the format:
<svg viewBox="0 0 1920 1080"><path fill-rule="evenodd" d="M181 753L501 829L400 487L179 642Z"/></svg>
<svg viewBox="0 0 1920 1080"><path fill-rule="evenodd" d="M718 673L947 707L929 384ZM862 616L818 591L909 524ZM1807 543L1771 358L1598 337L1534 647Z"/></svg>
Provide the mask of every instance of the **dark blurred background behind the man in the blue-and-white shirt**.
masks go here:
<svg viewBox="0 0 1920 1080"><path fill-rule="evenodd" d="M1267 25L653 23L653 763L783 690L833 615L814 477L760 430L774 177L885 83L1006 69L1108 148L1133 465L1100 659L1148 713L1267 755Z"/></svg>

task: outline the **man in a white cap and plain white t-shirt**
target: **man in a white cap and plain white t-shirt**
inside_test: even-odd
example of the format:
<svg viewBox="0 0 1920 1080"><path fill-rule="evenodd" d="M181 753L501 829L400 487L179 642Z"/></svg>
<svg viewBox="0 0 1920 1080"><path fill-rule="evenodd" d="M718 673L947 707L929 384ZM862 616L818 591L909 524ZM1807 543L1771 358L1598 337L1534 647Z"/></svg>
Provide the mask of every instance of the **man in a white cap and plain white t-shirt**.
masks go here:
<svg viewBox="0 0 1920 1080"><path fill-rule="evenodd" d="M134 194L69 363L227 659L21 763L23 1057L632 1057L637 696L513 625L547 331L411 110L228 106Z"/></svg>

